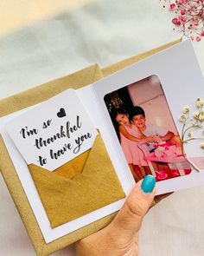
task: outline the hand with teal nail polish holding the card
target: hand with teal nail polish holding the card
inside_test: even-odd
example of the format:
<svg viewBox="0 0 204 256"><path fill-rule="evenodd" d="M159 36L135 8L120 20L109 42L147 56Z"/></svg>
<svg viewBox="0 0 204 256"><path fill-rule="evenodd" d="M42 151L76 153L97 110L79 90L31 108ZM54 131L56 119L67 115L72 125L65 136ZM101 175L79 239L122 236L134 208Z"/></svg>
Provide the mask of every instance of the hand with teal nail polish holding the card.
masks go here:
<svg viewBox="0 0 204 256"><path fill-rule="evenodd" d="M155 196L155 178L145 176L133 187L109 226L76 243L78 256L138 255L138 232Z"/></svg>

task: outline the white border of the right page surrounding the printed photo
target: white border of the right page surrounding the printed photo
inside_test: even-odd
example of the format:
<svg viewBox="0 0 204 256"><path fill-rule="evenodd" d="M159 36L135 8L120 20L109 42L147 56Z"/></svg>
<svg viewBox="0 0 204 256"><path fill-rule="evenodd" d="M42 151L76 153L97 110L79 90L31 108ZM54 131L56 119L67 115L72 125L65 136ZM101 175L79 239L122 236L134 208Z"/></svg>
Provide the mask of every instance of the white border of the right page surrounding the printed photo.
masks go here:
<svg viewBox="0 0 204 256"><path fill-rule="evenodd" d="M143 80L143 78L150 75L158 76L163 86L163 92L167 99L170 112L175 121L175 126L180 135L182 124L179 123L179 117L182 115L182 108L188 105L194 112L196 110L196 99L204 95L201 94L201 92L204 92L204 79L190 40L175 44L99 82L95 82L93 84L93 90L99 102L101 115L103 115L106 123L103 132L108 133L107 140L118 149L121 165L124 164L125 158L106 108L104 97L117 89ZM185 150L190 157L201 157L203 155L198 141L188 143ZM127 165L125 171L130 172ZM199 186L203 183L203 170L199 173L193 170L191 174L185 176L156 182L156 194L165 194L187 187Z"/></svg>

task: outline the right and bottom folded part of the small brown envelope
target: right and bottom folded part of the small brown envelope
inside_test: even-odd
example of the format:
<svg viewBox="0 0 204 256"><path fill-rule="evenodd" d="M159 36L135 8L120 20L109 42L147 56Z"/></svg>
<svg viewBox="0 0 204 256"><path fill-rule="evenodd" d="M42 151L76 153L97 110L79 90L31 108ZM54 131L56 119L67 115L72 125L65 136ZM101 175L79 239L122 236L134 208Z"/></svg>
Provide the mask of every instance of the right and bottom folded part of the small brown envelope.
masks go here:
<svg viewBox="0 0 204 256"><path fill-rule="evenodd" d="M50 222L52 228L125 197L100 135L92 145L83 172L72 181Z"/></svg>

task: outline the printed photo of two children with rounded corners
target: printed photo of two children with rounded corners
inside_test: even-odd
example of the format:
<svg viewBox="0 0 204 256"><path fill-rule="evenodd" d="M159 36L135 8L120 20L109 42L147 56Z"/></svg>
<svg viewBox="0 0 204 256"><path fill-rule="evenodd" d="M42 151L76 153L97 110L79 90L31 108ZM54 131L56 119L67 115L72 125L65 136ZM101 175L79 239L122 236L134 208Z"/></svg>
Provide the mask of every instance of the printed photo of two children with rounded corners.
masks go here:
<svg viewBox="0 0 204 256"><path fill-rule="evenodd" d="M150 75L105 95L105 105L135 181L191 173L162 84Z"/></svg>

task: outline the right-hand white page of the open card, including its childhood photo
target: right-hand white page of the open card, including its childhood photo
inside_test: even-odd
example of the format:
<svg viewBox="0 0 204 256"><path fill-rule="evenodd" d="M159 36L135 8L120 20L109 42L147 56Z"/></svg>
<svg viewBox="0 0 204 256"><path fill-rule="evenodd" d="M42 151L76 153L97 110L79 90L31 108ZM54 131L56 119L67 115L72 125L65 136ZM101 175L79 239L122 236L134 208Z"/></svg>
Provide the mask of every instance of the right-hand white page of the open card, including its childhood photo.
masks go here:
<svg viewBox="0 0 204 256"><path fill-rule="evenodd" d="M112 141L121 161L129 164L130 169L125 168L125 172L131 173L132 166L136 181L153 174L156 194L204 182L204 138L202 128L197 128L202 120L196 121L196 116L194 119L196 111L197 116L203 113L203 83L193 46L185 41L92 85L105 120L102 132L108 134L107 141ZM191 134L183 133L187 128L182 122L186 106L190 110L185 118L194 128L189 132L198 140L188 140ZM140 113L132 115L136 108L143 112L140 109ZM118 115L114 115L117 111ZM149 136L150 143L124 138L121 127L130 138Z"/></svg>

